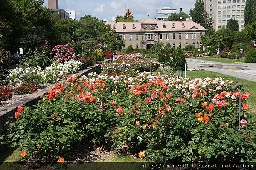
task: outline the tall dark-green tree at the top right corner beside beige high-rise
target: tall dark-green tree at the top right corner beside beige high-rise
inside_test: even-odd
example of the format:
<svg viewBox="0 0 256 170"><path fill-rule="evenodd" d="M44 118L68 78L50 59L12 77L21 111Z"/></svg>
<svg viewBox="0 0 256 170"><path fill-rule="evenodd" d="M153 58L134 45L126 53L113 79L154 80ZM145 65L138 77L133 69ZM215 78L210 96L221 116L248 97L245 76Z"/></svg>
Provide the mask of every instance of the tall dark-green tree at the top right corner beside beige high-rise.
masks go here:
<svg viewBox="0 0 256 170"><path fill-rule="evenodd" d="M253 22L253 17L256 14L256 0L246 0L244 9L244 25Z"/></svg>

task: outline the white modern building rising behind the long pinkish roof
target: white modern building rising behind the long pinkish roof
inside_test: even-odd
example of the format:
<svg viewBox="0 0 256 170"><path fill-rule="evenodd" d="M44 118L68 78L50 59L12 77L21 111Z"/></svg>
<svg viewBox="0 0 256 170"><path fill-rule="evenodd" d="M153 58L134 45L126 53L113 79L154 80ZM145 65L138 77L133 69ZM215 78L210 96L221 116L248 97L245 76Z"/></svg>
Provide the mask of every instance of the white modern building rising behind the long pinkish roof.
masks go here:
<svg viewBox="0 0 256 170"><path fill-rule="evenodd" d="M182 11L181 9L172 9L171 7L157 8L157 21L166 20L171 14L178 14Z"/></svg>

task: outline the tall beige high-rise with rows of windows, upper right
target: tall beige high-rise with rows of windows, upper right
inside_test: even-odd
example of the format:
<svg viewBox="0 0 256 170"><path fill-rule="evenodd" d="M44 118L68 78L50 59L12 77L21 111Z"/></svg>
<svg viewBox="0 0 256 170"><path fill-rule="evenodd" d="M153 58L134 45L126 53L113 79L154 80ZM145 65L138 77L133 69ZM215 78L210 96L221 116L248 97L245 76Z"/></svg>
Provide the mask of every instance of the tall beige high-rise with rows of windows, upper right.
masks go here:
<svg viewBox="0 0 256 170"><path fill-rule="evenodd" d="M246 0L204 0L204 10L213 19L215 30L225 28L230 18L238 20L239 30L244 29Z"/></svg>

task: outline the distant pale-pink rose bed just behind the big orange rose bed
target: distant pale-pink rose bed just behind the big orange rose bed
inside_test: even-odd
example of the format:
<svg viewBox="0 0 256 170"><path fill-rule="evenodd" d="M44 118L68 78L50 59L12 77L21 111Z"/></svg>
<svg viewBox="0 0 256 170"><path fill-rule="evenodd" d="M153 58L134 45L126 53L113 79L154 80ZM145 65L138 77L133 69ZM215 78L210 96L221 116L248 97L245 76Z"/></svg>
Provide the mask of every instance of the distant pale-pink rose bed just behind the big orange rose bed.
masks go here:
<svg viewBox="0 0 256 170"><path fill-rule="evenodd" d="M140 72L155 71L160 66L156 61L145 61L140 59L118 60L102 66L102 72L124 72L139 70Z"/></svg>

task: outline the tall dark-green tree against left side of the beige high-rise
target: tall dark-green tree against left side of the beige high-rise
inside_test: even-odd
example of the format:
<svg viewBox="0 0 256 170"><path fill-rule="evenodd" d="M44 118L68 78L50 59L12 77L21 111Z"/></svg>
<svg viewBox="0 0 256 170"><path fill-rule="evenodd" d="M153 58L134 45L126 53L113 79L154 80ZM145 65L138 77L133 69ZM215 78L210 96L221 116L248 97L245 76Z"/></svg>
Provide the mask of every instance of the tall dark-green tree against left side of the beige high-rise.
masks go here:
<svg viewBox="0 0 256 170"><path fill-rule="evenodd" d="M193 18L195 23L201 24L205 29L212 26L213 20L209 15L204 13L204 1L196 0L194 9L190 9L189 16Z"/></svg>

